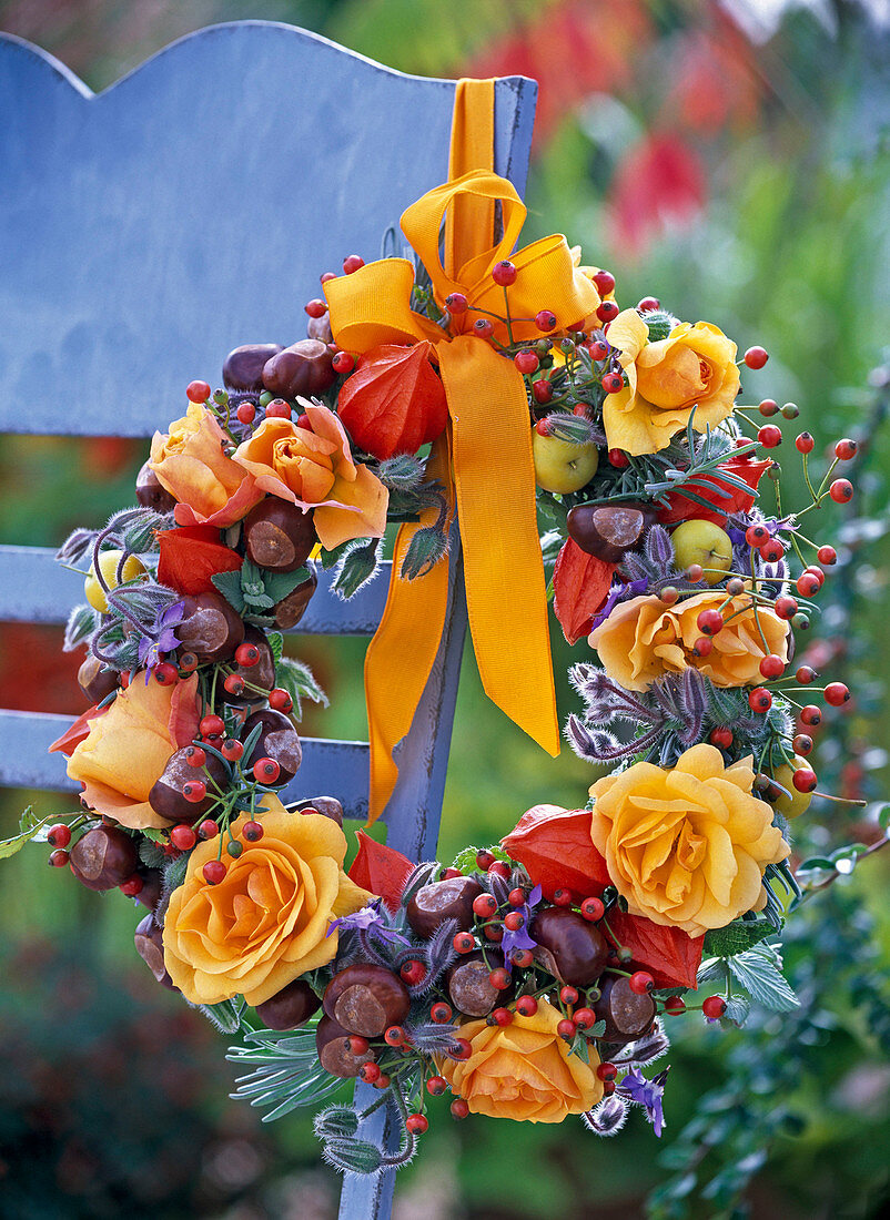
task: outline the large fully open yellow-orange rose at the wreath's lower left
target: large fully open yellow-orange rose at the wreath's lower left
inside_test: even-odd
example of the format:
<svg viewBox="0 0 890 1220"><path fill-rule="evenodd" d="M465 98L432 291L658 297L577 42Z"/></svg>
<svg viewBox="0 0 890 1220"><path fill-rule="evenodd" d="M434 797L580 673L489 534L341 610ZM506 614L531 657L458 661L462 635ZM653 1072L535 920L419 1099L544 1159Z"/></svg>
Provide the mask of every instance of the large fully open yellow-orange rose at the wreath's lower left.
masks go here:
<svg viewBox="0 0 890 1220"><path fill-rule="evenodd" d="M226 876L219 884L203 874L219 853L219 841L208 839L192 852L186 881L170 899L164 961L193 1004L233 996L262 1004L333 960L331 920L371 898L343 872L347 841L332 819L289 814L275 794L255 816L265 832L256 843L241 837L247 817L232 822L243 852L237 858L223 852Z"/></svg>

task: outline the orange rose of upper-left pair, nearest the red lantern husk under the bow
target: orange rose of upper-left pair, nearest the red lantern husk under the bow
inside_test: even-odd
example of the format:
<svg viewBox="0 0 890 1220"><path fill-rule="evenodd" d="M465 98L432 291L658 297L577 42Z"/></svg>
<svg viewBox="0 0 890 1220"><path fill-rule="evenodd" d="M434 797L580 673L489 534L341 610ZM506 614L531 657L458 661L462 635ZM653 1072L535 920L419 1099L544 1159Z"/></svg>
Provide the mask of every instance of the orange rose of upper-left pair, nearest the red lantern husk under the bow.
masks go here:
<svg viewBox="0 0 890 1220"><path fill-rule="evenodd" d="M356 465L333 411L300 400L311 431L292 420L265 420L238 447L234 461L256 486L300 509L315 509L315 531L332 550L349 538L380 538L389 493L367 466Z"/></svg>

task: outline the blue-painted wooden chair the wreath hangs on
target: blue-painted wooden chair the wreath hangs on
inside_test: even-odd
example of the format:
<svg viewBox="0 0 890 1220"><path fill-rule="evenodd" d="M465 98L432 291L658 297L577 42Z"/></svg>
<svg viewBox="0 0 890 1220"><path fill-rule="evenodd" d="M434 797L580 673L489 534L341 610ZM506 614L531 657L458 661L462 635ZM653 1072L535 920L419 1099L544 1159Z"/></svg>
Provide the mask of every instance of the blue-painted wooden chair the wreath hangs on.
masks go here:
<svg viewBox="0 0 890 1220"><path fill-rule="evenodd" d="M494 168L520 193L535 96L521 77L496 87ZM452 81L271 22L201 29L101 94L0 35L0 432L149 437L234 344L294 342L319 273L377 256L444 181L453 98ZM449 562L444 633L385 814L411 859L436 850L466 626L459 545ZM322 581L299 631L372 634L387 578L346 604ZM0 620L62 623L81 598L51 550L0 545ZM0 783L70 791L46 754L67 722L0 711ZM333 792L363 817L367 745L304 745L288 797ZM392 1116L378 1109L361 1133L391 1146ZM341 1216L388 1215L393 1176L347 1175Z"/></svg>

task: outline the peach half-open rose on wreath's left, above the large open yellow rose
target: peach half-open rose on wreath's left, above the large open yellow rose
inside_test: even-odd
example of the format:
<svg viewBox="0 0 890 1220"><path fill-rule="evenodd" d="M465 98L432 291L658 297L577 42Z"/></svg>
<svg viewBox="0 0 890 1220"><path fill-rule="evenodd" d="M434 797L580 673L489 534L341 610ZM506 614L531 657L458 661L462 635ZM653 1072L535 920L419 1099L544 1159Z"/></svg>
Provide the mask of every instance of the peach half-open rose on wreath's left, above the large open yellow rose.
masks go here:
<svg viewBox="0 0 890 1220"><path fill-rule="evenodd" d="M100 716L68 759L90 809L131 830L170 826L148 795L170 755L198 736L198 675L162 687L140 673Z"/></svg>

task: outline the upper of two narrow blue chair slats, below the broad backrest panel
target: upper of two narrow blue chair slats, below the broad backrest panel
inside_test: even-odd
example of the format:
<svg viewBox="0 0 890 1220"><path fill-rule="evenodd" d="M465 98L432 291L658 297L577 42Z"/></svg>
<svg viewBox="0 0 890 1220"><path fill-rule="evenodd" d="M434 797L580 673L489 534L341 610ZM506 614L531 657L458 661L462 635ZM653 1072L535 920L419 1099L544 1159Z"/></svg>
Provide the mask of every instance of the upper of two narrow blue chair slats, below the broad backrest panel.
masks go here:
<svg viewBox="0 0 890 1220"><path fill-rule="evenodd" d="M57 564L44 547L0 545L0 621L67 622L83 601L83 577ZM380 575L344 601L331 588L333 575L316 565L319 588L294 628L305 636L372 636L389 587L388 562Z"/></svg>

